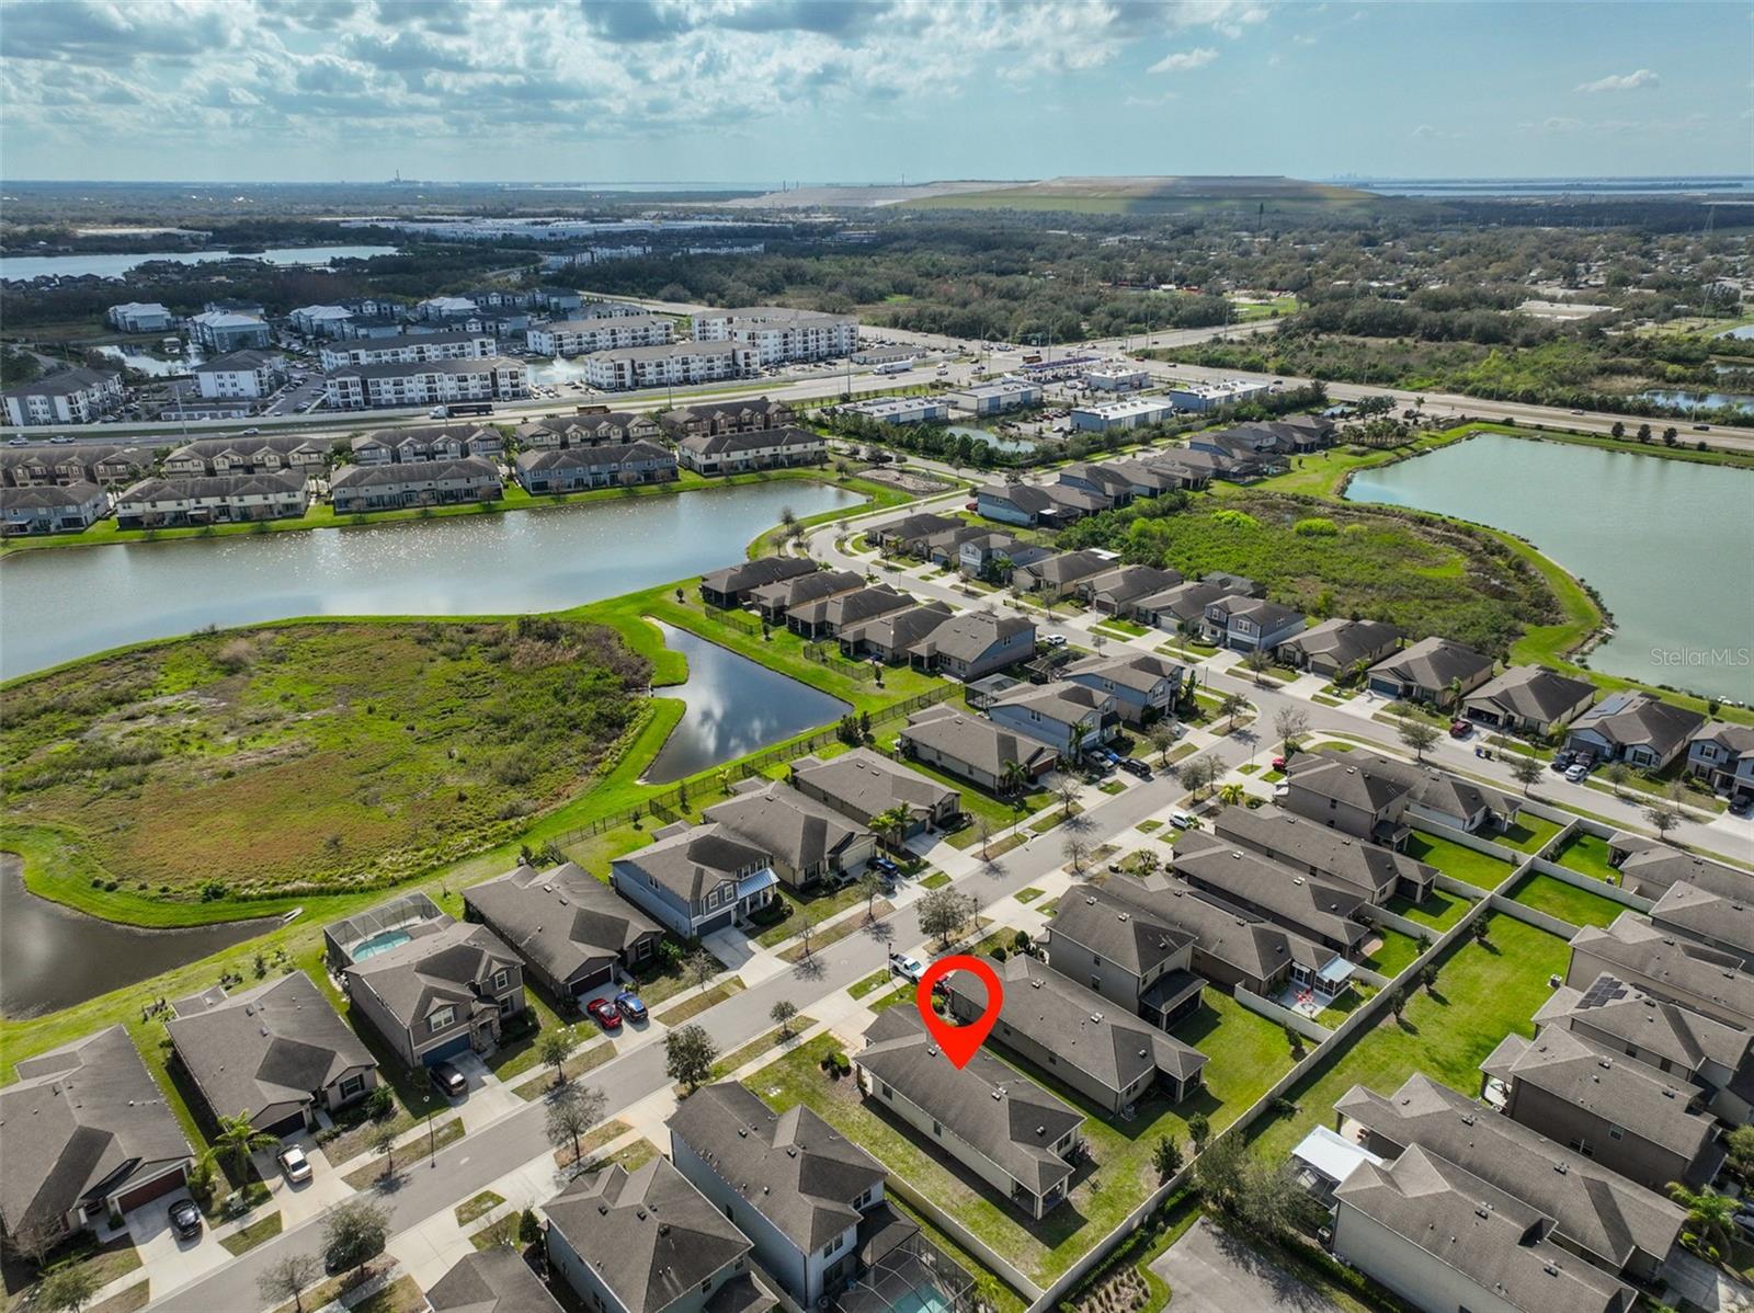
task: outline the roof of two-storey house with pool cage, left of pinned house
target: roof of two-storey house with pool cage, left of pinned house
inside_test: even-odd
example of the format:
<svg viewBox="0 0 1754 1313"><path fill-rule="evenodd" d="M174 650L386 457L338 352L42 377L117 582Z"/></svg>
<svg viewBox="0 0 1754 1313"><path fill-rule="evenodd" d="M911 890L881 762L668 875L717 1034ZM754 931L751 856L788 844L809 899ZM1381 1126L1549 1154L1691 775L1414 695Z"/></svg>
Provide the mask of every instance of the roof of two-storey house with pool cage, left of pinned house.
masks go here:
<svg viewBox="0 0 1754 1313"><path fill-rule="evenodd" d="M856 1227L852 1201L888 1178L877 1159L803 1104L775 1113L735 1082L688 1096L670 1134L805 1253Z"/></svg>

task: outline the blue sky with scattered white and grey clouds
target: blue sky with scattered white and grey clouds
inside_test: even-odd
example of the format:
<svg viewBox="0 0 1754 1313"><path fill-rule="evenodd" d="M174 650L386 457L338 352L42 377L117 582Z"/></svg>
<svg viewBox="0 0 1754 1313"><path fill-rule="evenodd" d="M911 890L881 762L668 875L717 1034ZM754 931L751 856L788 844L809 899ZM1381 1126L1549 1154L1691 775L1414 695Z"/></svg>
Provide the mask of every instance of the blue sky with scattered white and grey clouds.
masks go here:
<svg viewBox="0 0 1754 1313"><path fill-rule="evenodd" d="M1754 174L1754 5L0 0L0 179Z"/></svg>

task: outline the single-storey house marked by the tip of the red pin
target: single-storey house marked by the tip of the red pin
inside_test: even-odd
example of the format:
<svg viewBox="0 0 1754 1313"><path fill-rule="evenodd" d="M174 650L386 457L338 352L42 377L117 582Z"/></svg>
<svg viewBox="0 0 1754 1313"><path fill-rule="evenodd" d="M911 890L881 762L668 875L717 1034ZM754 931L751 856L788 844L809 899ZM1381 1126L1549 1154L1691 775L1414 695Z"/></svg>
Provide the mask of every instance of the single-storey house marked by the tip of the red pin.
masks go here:
<svg viewBox="0 0 1754 1313"><path fill-rule="evenodd" d="M859 1092L1030 1218L1072 1190L1084 1117L991 1054L956 1066L914 1008L889 1008L852 1059Z"/></svg>

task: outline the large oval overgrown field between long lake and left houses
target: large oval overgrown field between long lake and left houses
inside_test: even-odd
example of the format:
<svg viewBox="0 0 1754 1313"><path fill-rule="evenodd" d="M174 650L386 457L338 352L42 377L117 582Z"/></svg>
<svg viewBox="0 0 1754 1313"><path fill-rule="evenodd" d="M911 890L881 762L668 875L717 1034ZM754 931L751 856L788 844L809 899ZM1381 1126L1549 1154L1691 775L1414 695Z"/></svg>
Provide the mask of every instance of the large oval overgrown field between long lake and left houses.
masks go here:
<svg viewBox="0 0 1754 1313"><path fill-rule="evenodd" d="M142 901L395 884L575 792L649 677L614 629L547 619L146 645L7 689L7 824Z"/></svg>

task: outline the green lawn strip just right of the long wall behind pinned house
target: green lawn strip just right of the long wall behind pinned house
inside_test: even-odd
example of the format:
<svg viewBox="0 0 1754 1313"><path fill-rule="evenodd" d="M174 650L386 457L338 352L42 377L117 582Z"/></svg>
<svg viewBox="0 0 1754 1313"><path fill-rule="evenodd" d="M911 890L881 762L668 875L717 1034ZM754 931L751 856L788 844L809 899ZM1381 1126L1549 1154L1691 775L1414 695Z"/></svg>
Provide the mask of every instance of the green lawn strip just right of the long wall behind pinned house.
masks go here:
<svg viewBox="0 0 1754 1313"><path fill-rule="evenodd" d="M1529 1036L1529 1017L1547 997L1547 976L1563 975L1566 941L1510 917L1487 913L1491 945L1472 938L1438 968L1437 994L1414 992L1401 1020L1389 1011L1352 1043L1324 1054L1287 1094L1291 1115L1263 1117L1251 1139L1280 1162L1314 1125L1333 1125L1333 1104L1352 1085L1393 1094L1422 1071L1465 1094L1480 1089L1479 1066L1510 1031Z"/></svg>

